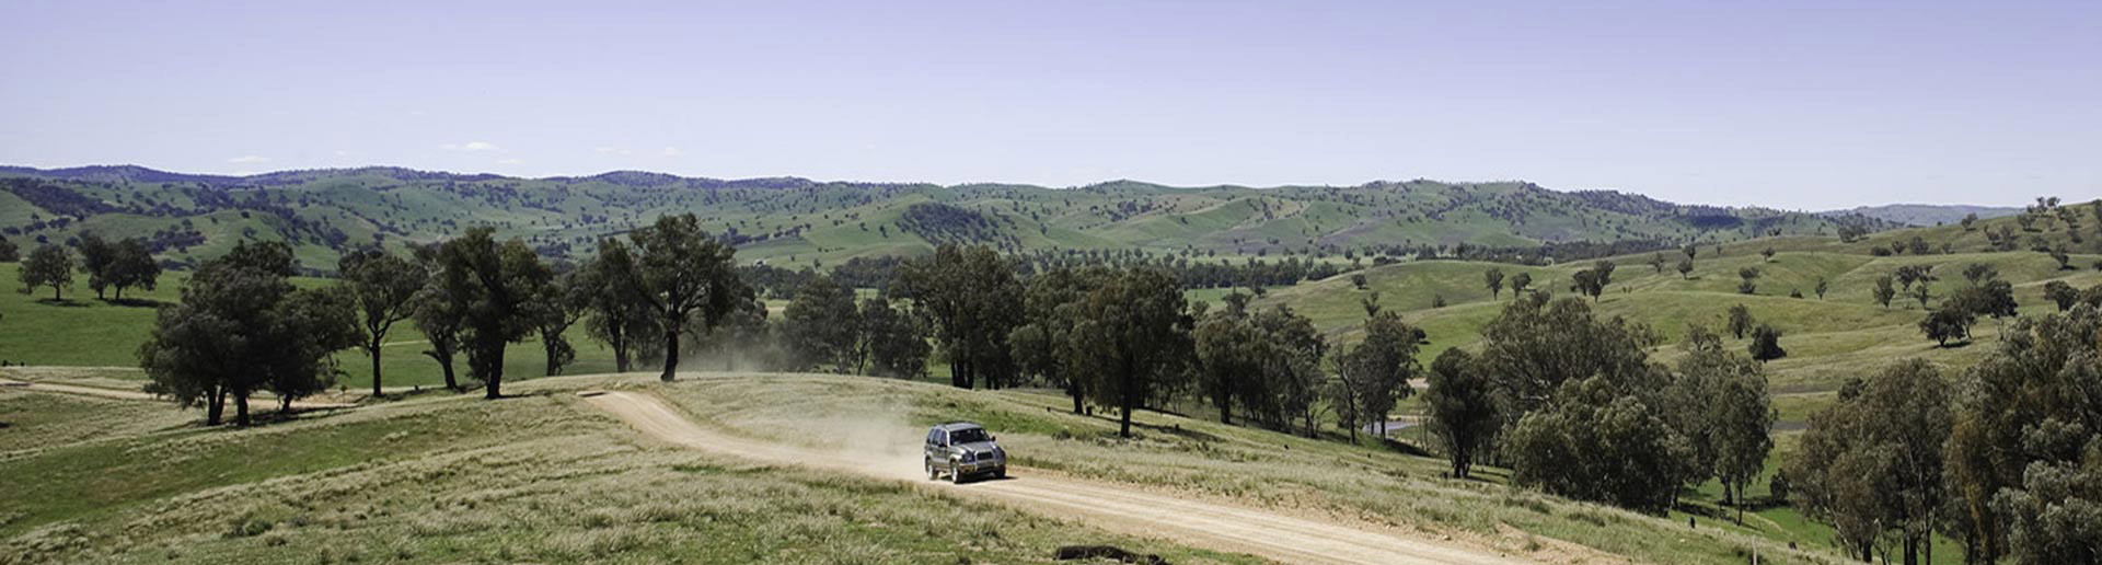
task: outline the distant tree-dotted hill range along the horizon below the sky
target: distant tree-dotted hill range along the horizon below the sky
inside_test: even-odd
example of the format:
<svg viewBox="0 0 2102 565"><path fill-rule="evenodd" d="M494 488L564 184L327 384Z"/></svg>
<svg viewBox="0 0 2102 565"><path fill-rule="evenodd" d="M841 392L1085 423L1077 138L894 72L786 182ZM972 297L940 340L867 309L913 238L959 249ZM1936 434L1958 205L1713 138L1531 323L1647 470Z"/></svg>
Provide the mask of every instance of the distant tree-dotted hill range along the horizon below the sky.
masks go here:
<svg viewBox="0 0 2102 565"><path fill-rule="evenodd" d="M1810 214L1673 204L1532 183L1255 189L1110 181L1053 189L795 176L725 181L637 170L513 179L385 166L248 176L143 166L0 166L0 237L67 242L80 231L147 237L172 263L217 256L242 239L284 239L294 244L305 267L330 269L343 250L435 242L473 225L523 237L549 256L576 258L599 237L666 212L700 214L713 233L740 248L740 258L803 267L923 254L942 242L1053 254L1402 254L1461 244L1532 248L1831 235L1841 225L1879 231L1921 218L1894 218L1879 208Z"/></svg>

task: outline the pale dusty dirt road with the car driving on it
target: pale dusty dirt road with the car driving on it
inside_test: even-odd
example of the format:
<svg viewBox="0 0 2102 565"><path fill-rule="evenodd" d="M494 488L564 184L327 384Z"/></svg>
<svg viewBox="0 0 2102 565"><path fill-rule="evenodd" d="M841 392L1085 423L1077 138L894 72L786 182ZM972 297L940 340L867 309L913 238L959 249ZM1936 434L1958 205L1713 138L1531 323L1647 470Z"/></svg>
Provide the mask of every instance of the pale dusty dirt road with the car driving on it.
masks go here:
<svg viewBox="0 0 2102 565"><path fill-rule="evenodd" d="M637 431L725 456L771 464L847 470L864 477L914 481L956 496L973 496L1032 512L1072 517L1110 531L1150 533L1190 546L1249 552L1280 563L1526 563L1471 548L1354 529L1263 510L1196 502L1093 481L1034 475L965 485L929 483L912 462L870 462L820 449L742 439L694 424L662 399L643 393L584 393L584 401Z"/></svg>

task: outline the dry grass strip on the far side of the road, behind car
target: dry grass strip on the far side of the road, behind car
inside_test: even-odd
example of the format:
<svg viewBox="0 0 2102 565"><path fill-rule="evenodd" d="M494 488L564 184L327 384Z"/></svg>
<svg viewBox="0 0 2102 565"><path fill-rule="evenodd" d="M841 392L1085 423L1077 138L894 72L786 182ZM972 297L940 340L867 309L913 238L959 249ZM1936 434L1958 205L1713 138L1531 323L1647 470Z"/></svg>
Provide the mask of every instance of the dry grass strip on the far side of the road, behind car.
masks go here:
<svg viewBox="0 0 2102 565"><path fill-rule="evenodd" d="M1482 468L1480 481L1442 479L1442 460L1385 447L1152 412L1135 418L1135 439L1116 439L1110 418L1066 414L1070 403L1045 391L969 393L851 376L713 376L656 393L731 431L813 447L841 443L830 433L839 428L839 414L898 414L904 407L910 426L902 433L879 433L900 426L895 416L860 422L860 437L904 437L906 447L891 449L916 445L925 424L975 420L1001 435L1015 464L1030 466L1017 473L1064 473L1366 527L1459 536L1551 561L1619 554L1724 565L1743 563L1755 548L1789 563L1841 563L1835 554L1789 550L1757 529L1703 525L1688 531L1684 517L1658 519L1513 491L1501 485L1495 468ZM816 414L832 416L811 420ZM1820 540L1801 542L1816 546Z"/></svg>

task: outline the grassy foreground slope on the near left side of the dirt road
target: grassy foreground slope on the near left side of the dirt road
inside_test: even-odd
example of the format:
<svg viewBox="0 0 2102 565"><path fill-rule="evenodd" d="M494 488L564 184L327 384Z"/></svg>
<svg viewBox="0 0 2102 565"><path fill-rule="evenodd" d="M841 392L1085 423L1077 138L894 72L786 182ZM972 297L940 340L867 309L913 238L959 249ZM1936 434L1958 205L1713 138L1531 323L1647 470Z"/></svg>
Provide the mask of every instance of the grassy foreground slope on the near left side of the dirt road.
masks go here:
<svg viewBox="0 0 2102 565"><path fill-rule="evenodd" d="M0 563L1251 563L904 483L668 447L576 403L425 397L244 431L0 391Z"/></svg>

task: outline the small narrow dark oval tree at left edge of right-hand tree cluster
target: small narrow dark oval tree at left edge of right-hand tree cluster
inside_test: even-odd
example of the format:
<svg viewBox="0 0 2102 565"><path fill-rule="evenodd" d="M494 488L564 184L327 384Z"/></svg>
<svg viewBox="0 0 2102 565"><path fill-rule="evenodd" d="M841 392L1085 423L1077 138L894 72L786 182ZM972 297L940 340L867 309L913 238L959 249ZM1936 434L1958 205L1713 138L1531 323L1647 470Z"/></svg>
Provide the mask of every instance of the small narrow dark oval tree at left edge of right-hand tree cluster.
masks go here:
<svg viewBox="0 0 2102 565"><path fill-rule="evenodd" d="M1423 405L1429 431L1452 460L1452 477L1467 479L1476 456L1497 437L1497 403L1490 380L1465 349L1446 349L1431 361Z"/></svg>

